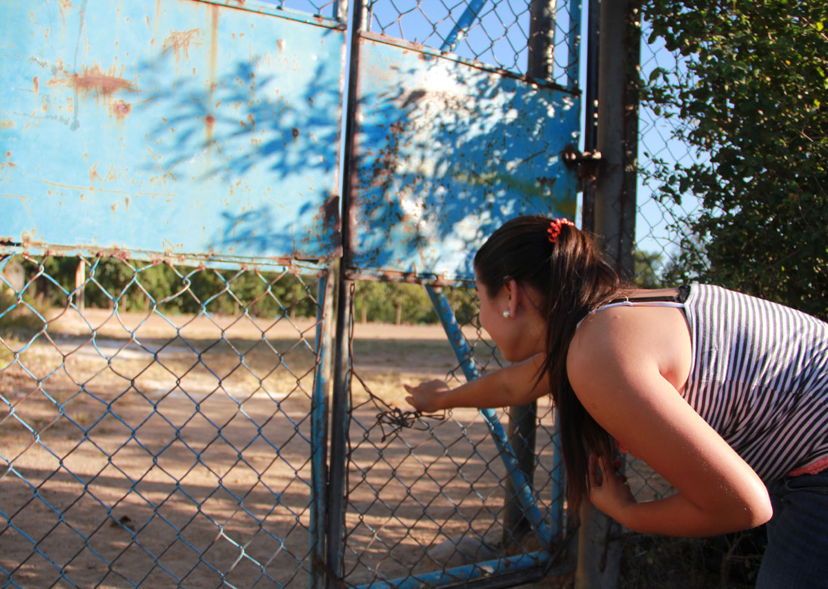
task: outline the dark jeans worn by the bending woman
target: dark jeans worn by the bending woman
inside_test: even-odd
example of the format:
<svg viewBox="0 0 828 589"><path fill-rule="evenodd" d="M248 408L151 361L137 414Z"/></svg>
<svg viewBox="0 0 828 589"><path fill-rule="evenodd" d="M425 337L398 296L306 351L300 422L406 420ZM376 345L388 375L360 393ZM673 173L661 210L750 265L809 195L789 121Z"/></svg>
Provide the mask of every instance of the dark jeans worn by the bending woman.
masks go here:
<svg viewBox="0 0 828 589"><path fill-rule="evenodd" d="M760 589L828 587L828 469L768 484L773 518Z"/></svg>

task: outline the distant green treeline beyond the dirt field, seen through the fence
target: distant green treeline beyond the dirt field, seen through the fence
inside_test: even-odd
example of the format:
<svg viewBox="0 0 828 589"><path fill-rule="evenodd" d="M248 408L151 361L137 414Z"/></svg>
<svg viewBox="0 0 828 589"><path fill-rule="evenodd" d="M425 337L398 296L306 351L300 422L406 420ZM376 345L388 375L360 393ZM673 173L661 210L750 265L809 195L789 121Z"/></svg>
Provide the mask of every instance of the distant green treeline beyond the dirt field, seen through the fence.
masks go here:
<svg viewBox="0 0 828 589"><path fill-rule="evenodd" d="M167 263L122 261L116 257L81 261L77 256L17 257L4 275L17 273L11 290L51 307L81 304L123 311L158 309L164 313L248 313L256 317L313 317L317 304L315 275L295 271L254 271ZM12 268L14 272L12 271ZM9 301L5 289L4 302ZM461 323L476 314L474 290L446 288ZM6 306L5 304L3 305ZM2 309L0 309L2 312ZM357 321L437 323L439 320L422 285L359 281L354 290Z"/></svg>

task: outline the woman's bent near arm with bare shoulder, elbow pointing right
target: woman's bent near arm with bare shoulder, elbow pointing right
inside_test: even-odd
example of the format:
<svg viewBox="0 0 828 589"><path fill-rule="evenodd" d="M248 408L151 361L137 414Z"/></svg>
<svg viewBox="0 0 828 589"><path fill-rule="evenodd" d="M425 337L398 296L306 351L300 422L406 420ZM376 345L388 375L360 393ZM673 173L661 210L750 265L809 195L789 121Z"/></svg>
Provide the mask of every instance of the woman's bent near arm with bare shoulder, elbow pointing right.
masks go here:
<svg viewBox="0 0 828 589"><path fill-rule="evenodd" d="M678 352L662 339L663 329L623 311L602 313L595 322L601 324L584 329L570 346L570 384L593 418L678 492L638 503L609 459L599 457L590 469L590 500L645 533L715 535L770 519L763 482L664 376Z"/></svg>

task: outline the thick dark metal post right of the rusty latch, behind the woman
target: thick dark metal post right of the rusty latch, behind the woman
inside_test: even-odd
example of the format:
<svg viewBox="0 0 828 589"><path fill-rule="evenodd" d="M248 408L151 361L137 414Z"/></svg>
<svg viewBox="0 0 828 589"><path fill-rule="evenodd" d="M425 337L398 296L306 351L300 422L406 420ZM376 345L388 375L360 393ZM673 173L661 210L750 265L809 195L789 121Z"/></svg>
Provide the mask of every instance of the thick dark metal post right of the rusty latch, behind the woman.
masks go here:
<svg viewBox="0 0 828 589"><path fill-rule="evenodd" d="M600 2L595 233L625 278L634 272L640 26L634 0ZM620 526L588 502L581 510L577 589L618 587Z"/></svg>

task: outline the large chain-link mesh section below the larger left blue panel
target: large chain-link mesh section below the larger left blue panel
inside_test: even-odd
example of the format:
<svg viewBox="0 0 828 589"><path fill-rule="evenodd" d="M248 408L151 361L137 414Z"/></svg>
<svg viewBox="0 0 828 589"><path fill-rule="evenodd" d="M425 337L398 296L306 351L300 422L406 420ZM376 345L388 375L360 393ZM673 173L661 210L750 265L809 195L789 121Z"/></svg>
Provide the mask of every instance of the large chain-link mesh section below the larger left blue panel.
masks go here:
<svg viewBox="0 0 828 589"><path fill-rule="evenodd" d="M296 587L318 271L0 261L3 587Z"/></svg>

